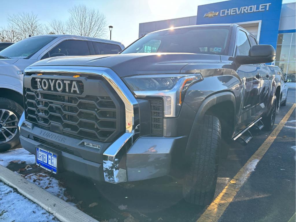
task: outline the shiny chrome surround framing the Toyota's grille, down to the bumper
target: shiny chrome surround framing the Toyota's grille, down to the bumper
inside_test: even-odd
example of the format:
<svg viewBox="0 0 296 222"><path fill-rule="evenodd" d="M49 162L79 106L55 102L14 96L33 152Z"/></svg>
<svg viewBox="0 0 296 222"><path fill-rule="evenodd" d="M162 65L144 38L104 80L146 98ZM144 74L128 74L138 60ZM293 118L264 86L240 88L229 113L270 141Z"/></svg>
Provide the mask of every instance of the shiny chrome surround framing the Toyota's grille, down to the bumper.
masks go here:
<svg viewBox="0 0 296 222"><path fill-rule="evenodd" d="M139 136L139 105L119 76L110 68L88 66L29 66L25 69L25 75L29 73L99 75L107 80L125 105L126 132L115 140L103 154L104 178L110 183L127 181L126 169L119 167L119 162L124 155L120 150L123 147L128 149Z"/></svg>

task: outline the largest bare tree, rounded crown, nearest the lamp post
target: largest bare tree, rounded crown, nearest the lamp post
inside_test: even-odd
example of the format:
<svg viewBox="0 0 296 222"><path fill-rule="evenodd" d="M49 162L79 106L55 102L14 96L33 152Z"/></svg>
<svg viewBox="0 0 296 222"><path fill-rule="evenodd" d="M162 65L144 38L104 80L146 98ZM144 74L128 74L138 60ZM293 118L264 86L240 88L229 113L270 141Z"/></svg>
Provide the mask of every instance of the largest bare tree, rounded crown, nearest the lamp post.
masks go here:
<svg viewBox="0 0 296 222"><path fill-rule="evenodd" d="M68 12L70 18L67 28L70 34L101 38L106 36L106 17L99 10L82 4L70 8Z"/></svg>

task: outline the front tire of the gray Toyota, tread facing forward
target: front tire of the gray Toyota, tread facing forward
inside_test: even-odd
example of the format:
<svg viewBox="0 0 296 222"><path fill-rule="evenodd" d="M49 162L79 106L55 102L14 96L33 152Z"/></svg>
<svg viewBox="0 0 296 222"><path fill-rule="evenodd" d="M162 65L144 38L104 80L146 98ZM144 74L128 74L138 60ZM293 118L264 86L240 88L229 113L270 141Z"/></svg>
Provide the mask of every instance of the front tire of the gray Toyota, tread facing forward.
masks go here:
<svg viewBox="0 0 296 222"><path fill-rule="evenodd" d="M221 144L221 124L217 117L205 115L202 127L194 133L189 169L183 181L184 199L197 205L209 205L214 197Z"/></svg>

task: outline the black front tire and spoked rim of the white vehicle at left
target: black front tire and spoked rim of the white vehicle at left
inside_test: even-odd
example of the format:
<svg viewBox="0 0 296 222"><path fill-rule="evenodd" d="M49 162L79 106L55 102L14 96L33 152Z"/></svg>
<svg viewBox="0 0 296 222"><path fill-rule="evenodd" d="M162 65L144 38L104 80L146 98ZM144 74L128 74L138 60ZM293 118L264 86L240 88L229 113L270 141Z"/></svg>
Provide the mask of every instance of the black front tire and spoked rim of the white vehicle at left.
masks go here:
<svg viewBox="0 0 296 222"><path fill-rule="evenodd" d="M7 111L3 111L3 110L7 110ZM6 123L6 122L4 122L4 120L9 115L8 111L12 112L14 115L11 115L6 120L6 122L10 122L10 123L7 123L7 128L6 128L4 126L4 124ZM0 131L1 131L0 132L0 152L6 151L6 150L9 150L12 148L20 148L21 147L20 139L19 139L19 135L18 135L17 123L18 123L18 120L20 120L20 117L21 117L23 111L24 111L24 109L17 102L15 102L11 99L6 99L6 98L0 97ZM4 114L2 115L3 112L4 112ZM9 132L4 128L9 129L9 131L12 131L13 133L9 134ZM5 133L5 136L7 136L7 138L9 140L4 137L3 133Z"/></svg>

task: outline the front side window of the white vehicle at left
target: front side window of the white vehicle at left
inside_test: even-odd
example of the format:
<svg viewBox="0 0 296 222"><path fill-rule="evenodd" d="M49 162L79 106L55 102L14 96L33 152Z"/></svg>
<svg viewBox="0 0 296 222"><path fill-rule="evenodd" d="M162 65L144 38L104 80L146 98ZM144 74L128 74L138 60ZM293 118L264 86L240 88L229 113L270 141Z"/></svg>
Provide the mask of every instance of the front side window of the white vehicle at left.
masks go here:
<svg viewBox="0 0 296 222"><path fill-rule="evenodd" d="M55 56L83 56L90 55L87 41L65 40L47 52L41 59Z"/></svg>

